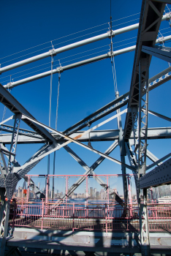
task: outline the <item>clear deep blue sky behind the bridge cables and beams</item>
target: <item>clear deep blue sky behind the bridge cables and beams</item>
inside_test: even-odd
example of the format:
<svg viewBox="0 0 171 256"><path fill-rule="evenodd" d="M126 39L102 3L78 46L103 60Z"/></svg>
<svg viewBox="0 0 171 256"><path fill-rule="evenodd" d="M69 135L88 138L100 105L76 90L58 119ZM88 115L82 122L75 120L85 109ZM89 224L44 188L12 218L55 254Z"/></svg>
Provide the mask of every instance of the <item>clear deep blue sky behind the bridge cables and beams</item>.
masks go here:
<svg viewBox="0 0 171 256"><path fill-rule="evenodd" d="M138 23L141 9L141 1L112 1L113 29ZM132 16L130 16L132 15ZM130 16L128 18L125 18ZM120 20L118 20L120 19ZM110 0L107 1L1 1L1 67L12 64L28 57L44 53L51 49L50 40L53 40L55 48L77 42L81 39L94 37L108 30L107 22L110 21ZM99 26L104 24L102 26ZM93 29L90 29L94 27ZM170 26L167 21L161 24L161 33L170 35ZM80 33L74 34L78 31ZM72 34L71 36L68 36ZM68 36L68 37L66 37ZM121 34L113 38L114 50L135 45L137 30ZM59 39L61 38L61 39ZM47 42L46 44L43 44ZM43 45L41 45L43 44ZM54 57L54 68L58 66L60 59L62 66L76 61L99 56L109 51L110 39L94 42L75 50L69 50ZM35 45L39 45L33 48ZM170 42L166 44L170 46ZM30 50L23 51L31 48ZM45 48L45 49L44 49ZM97 48L94 50L94 48ZM86 51L86 53L83 53ZM34 52L34 53L33 53ZM13 53L18 53L9 56ZM80 54L78 54L80 53ZM77 55L75 55L77 54ZM26 55L26 56L24 56ZM73 56L75 55L75 56ZM5 56L9 56L4 58ZM69 57L70 56L70 57ZM1 59L4 58L4 59ZM18 58L18 59L15 59ZM80 59L77 59L80 58ZM12 60L13 59L13 60ZM5 61L8 61L4 63ZM115 69L118 83L118 91L121 94L129 91L132 77L132 66L134 52L115 57ZM42 65L45 64L45 65ZM42 65L40 67L37 67ZM153 58L151 61L150 77L168 67L167 62ZM32 69L31 69L32 68ZM28 69L28 70L26 70ZM42 70L39 70L42 69ZM34 62L18 69L5 72L0 77L0 82L5 85L10 80L14 81L36 75L39 72L50 70L50 58ZM53 75L53 97L52 97L52 121L51 126L55 128L56 97L57 97L58 75ZM43 78L12 89L12 95L39 121L48 124L49 113L50 77ZM115 99L113 87L113 75L110 59L89 64L77 69L71 69L61 74L61 87L58 109L58 130L64 131L67 127L80 121L82 118L102 108L108 102ZM1 105L1 116L4 106ZM170 116L170 81L159 88L151 91L149 109ZM9 110L6 118L11 116ZM110 115L111 116L111 115ZM109 116L108 116L109 117ZM107 117L106 117L107 118ZM102 120L106 119L103 118ZM124 124L125 115L122 117ZM97 121L94 124L98 124ZM8 123L12 124L12 123ZM168 121L149 116L149 127L169 127ZM22 122L21 127L27 128ZM117 129L116 120L101 127L101 129ZM92 143L92 146L104 152L111 142ZM148 141L148 149L161 158L170 152L169 140ZM86 163L92 165L99 157L80 146L69 145ZM18 145L16 159L22 165L34 154L40 145ZM112 157L120 159L119 148L111 154ZM126 162L128 163L127 159ZM150 161L148 161L150 163ZM50 173L53 172L53 156L50 156ZM56 153L56 174L82 174L83 168L69 156L63 148ZM34 167L30 173L47 173L47 157L39 165ZM120 165L105 159L96 169L96 173L121 173ZM129 170L128 170L129 173Z"/></svg>

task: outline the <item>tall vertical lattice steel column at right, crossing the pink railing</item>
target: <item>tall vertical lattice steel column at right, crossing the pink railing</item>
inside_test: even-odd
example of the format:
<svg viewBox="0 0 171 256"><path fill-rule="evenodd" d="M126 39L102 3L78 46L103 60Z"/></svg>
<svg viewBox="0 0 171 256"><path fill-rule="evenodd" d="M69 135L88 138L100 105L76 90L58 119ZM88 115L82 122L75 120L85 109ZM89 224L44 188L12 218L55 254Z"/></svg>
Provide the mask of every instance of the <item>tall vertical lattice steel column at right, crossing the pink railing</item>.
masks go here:
<svg viewBox="0 0 171 256"><path fill-rule="evenodd" d="M138 176L143 176L146 172L146 153L148 137L148 69L149 56L140 57L139 62L139 120L138 120ZM145 93L145 94L144 94ZM144 95L143 95L144 94ZM145 109L143 113L142 108ZM135 148L136 149L136 148ZM150 238L148 229L148 211L147 211L147 189L143 189L143 202L140 201L140 239L142 255L151 255Z"/></svg>

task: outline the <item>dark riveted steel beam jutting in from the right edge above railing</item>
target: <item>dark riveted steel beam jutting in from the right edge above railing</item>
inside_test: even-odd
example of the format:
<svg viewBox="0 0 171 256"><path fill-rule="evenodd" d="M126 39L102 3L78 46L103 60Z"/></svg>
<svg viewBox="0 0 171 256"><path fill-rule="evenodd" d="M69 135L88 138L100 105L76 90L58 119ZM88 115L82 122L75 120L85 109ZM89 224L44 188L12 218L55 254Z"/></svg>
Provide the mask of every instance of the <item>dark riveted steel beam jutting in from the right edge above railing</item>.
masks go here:
<svg viewBox="0 0 171 256"><path fill-rule="evenodd" d="M171 184L171 158L140 178L140 189Z"/></svg>

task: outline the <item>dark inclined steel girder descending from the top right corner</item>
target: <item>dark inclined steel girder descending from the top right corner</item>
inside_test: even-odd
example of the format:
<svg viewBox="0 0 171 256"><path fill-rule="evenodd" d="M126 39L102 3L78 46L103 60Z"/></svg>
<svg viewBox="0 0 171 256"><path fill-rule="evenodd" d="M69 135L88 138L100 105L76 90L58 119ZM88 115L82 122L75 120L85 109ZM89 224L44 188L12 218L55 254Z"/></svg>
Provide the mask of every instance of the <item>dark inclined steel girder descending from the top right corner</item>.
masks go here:
<svg viewBox="0 0 171 256"><path fill-rule="evenodd" d="M137 34L137 48L135 50L134 65L132 71L132 82L129 93L128 108L137 107L139 104L139 62L142 46L152 47L155 45L156 37L161 23L164 4L153 1L142 1L140 15L140 27ZM153 17L153 18L152 18ZM142 18L144 22L142 23ZM149 57L149 65L151 56ZM150 89L149 89L150 90ZM132 113L127 113L124 128L124 138L129 139L132 132Z"/></svg>

